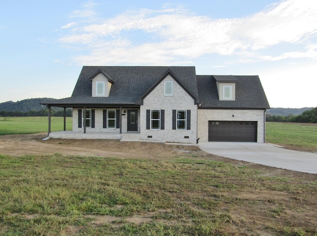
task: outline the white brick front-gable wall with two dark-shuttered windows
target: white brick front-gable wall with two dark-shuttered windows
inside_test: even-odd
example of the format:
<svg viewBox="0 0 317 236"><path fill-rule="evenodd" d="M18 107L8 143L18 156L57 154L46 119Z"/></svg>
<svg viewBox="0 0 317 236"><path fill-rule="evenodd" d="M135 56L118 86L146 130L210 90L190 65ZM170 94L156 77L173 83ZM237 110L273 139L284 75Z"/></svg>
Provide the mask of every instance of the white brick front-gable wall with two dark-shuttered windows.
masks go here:
<svg viewBox="0 0 317 236"><path fill-rule="evenodd" d="M164 81L173 81L173 95L164 95ZM191 110L191 129L172 130L172 110ZM164 110L164 130L146 129L146 110ZM196 143L197 105L194 99L175 81L167 76L148 94L141 105L140 134L142 140ZM152 138L148 138L152 136ZM188 137L188 138L187 138Z"/></svg>

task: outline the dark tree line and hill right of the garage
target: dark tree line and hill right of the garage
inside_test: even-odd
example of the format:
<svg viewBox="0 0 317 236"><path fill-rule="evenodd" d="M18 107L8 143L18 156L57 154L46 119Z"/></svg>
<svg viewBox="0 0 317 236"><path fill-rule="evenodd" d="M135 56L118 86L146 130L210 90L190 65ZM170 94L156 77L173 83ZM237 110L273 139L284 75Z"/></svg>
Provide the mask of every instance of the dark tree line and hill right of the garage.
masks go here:
<svg viewBox="0 0 317 236"><path fill-rule="evenodd" d="M300 115L265 115L265 121L267 122L295 122L295 123L317 123L317 107L312 110L304 111Z"/></svg>

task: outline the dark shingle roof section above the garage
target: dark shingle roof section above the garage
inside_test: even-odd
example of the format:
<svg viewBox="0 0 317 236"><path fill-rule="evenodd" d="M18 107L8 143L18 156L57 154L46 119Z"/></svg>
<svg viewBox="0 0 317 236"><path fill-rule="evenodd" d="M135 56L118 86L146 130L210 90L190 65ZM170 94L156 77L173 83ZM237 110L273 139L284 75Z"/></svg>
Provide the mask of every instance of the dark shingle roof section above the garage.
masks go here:
<svg viewBox="0 0 317 236"><path fill-rule="evenodd" d="M199 108L269 108L259 76L235 75L236 99L234 101L219 100L215 77L219 78L219 76L211 75L197 76L198 93L202 102Z"/></svg>

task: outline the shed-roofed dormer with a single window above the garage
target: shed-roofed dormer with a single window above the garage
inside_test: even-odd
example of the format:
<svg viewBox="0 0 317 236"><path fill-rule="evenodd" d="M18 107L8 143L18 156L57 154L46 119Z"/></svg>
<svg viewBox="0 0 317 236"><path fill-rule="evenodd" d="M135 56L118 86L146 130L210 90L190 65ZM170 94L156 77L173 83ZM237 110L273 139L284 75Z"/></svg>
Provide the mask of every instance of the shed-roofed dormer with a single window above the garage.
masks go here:
<svg viewBox="0 0 317 236"><path fill-rule="evenodd" d="M232 75L213 75L216 81L219 100L234 101L236 99L236 82Z"/></svg>

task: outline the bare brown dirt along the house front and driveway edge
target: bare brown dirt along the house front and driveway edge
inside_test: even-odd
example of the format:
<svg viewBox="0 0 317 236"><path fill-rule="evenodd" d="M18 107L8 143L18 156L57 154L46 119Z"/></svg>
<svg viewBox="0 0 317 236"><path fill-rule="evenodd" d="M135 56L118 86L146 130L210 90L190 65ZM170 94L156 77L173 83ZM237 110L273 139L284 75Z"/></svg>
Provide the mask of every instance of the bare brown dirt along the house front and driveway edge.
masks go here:
<svg viewBox="0 0 317 236"><path fill-rule="evenodd" d="M276 229L276 225L280 225L281 228L284 226L292 228L293 232L296 229L305 229L307 235L317 234L317 175L315 174L290 171L216 156L202 151L198 146L167 145L149 142L119 142L115 140L49 139L42 141L45 137L46 133L0 136L0 154L20 156L26 154L46 155L60 153L65 155L149 159L163 159L166 156L193 154L202 159L223 161L235 166L248 166L258 170L265 176L283 177L292 180L290 183L285 184L300 183L313 186L313 188L310 188L310 192L305 189L294 192L292 190L267 190L260 187L258 189L255 188L254 191L241 191L239 193L228 191L223 197L242 199L240 205L234 207L232 205L223 206L224 211L226 211L226 207L230 207L231 219L228 220L228 227L231 229L231 232L237 232L237 235L281 235L276 230L272 231L269 227L271 225L272 228ZM238 182L239 179L236 181ZM257 207L245 203L250 201L256 202L258 204ZM149 219L151 218L134 216L128 220L144 223L148 222ZM113 219L102 219L102 216L100 216L98 219L96 218L95 224L98 225L99 221L105 222L107 220L112 221ZM68 230L72 231L71 229Z"/></svg>

